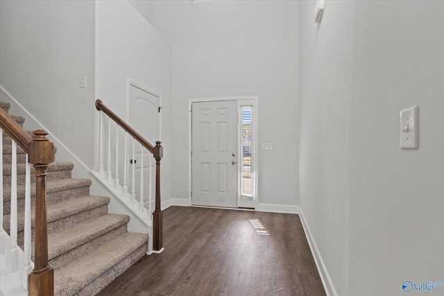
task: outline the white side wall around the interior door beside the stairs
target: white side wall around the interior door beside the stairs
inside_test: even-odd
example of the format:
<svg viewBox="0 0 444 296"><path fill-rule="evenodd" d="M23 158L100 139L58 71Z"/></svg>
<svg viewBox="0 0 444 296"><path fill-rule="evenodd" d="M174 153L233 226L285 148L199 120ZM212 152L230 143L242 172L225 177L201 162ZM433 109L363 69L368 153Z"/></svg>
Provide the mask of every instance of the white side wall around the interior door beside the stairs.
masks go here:
<svg viewBox="0 0 444 296"><path fill-rule="evenodd" d="M171 198L171 46L128 1L96 1L96 97L126 119L130 78L162 95L162 200Z"/></svg>

